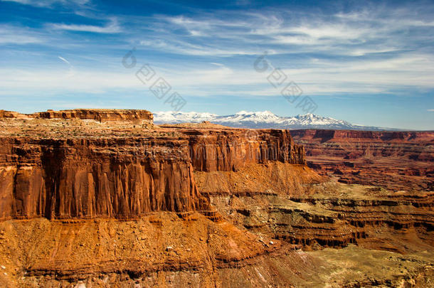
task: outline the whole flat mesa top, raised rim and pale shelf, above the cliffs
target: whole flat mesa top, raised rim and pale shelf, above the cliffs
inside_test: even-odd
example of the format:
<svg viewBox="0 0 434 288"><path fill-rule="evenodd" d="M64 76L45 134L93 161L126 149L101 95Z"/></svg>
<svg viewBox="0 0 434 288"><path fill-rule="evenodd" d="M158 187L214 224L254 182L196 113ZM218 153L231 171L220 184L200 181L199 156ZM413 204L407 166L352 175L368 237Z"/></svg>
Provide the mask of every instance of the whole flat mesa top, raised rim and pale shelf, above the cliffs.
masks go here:
<svg viewBox="0 0 434 288"><path fill-rule="evenodd" d="M211 122L154 125L147 110L73 109L21 114L0 110L0 137L32 139L182 137L220 132L247 135L252 129ZM257 132L268 129L258 129Z"/></svg>

